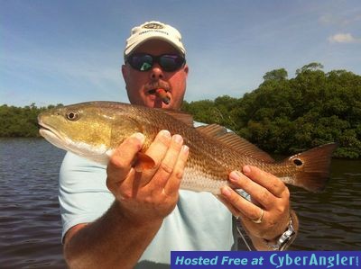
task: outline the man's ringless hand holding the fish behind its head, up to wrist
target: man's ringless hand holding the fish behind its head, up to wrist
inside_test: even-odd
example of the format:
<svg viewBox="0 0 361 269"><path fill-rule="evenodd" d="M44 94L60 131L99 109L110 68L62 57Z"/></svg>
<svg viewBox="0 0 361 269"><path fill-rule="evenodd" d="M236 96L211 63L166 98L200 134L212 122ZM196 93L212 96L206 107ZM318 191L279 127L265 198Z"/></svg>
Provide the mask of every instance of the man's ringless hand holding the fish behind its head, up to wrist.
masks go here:
<svg viewBox="0 0 361 269"><path fill-rule="evenodd" d="M180 135L161 130L145 154L152 157L152 169L136 172L134 159L143 147L141 133L132 135L116 149L107 166L106 185L115 195L123 216L134 225L161 221L171 213L179 198L180 181L189 148Z"/></svg>

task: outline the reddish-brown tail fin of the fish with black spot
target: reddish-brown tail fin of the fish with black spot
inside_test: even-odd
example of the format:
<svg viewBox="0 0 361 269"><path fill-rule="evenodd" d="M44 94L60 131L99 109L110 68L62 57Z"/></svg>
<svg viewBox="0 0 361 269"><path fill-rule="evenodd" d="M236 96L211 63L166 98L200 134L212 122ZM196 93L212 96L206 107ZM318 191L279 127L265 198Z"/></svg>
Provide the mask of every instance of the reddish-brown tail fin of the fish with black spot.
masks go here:
<svg viewBox="0 0 361 269"><path fill-rule="evenodd" d="M288 158L297 166L294 185L310 192L322 191L329 180L329 166L336 143L329 143Z"/></svg>

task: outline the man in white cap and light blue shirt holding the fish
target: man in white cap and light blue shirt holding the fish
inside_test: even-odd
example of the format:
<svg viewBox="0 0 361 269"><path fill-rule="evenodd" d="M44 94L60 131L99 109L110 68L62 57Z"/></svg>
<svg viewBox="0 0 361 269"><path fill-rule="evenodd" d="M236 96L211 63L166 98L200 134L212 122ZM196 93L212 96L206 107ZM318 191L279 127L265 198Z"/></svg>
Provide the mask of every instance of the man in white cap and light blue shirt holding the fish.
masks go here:
<svg viewBox="0 0 361 269"><path fill-rule="evenodd" d="M180 32L170 25L135 27L122 67L130 103L180 110L189 73L185 52ZM143 140L141 133L125 139L107 167L70 153L64 158L60 206L70 268L168 268L171 250L235 249L232 214L256 249L282 249L292 242L297 218L290 215L289 192L278 178L240 167L242 173L232 172L229 180L252 202L225 186L218 197L225 207L210 193L180 190L189 154L180 135L160 131L146 152L155 168L135 172Z"/></svg>

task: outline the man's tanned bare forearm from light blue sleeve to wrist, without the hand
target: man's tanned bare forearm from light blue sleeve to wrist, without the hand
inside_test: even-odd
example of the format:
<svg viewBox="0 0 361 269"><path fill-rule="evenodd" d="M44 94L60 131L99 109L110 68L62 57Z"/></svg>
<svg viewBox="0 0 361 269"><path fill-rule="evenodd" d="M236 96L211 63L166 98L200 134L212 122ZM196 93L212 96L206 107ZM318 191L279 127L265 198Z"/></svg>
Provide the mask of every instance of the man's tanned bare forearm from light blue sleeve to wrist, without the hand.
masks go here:
<svg viewBox="0 0 361 269"><path fill-rule="evenodd" d="M69 268L133 268L161 224L144 221L134 226L122 217L115 202L95 222L69 229L65 259Z"/></svg>

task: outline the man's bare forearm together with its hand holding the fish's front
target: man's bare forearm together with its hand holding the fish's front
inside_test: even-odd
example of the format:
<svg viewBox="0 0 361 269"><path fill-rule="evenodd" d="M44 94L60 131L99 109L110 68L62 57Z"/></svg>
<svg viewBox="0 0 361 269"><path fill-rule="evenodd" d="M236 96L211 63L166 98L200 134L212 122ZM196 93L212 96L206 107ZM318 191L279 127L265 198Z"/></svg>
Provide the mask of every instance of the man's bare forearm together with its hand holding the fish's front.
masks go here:
<svg viewBox="0 0 361 269"><path fill-rule="evenodd" d="M155 167L142 173L132 165L143 135L134 134L117 148L106 170L116 201L98 220L69 229L64 256L70 268L134 267L178 201L188 157L182 142L161 131L146 152Z"/></svg>

